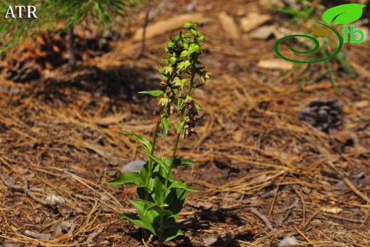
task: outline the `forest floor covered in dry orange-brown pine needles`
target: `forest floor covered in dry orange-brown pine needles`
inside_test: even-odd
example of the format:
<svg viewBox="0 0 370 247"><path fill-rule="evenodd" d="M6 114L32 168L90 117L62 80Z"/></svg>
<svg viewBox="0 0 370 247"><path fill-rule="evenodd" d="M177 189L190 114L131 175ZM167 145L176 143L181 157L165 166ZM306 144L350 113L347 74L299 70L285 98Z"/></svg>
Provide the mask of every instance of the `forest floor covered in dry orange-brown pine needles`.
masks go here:
<svg viewBox="0 0 370 247"><path fill-rule="evenodd" d="M201 193L186 199L184 236L166 244L370 246L370 43L344 44L341 55L355 76L330 60L335 90L327 63L287 62L274 52L277 34L253 38L260 27L304 33L312 24L292 23L264 2L179 1L148 23L148 30L160 21L170 26L185 12L199 19L206 36L200 60L212 73L194 90L205 115L198 135L180 142L177 153L198 164L174 171ZM149 36L137 61L142 43L134 31L145 11L102 56L24 83L0 79L0 246L144 246L141 229L117 220L132 211L136 191L105 182L144 159L120 131L152 139L157 99L137 92L159 88L158 58L180 31ZM223 28L223 12L236 30ZM243 31L252 12L270 20ZM317 98L342 104L336 130L300 120ZM171 154L175 132L157 153Z"/></svg>

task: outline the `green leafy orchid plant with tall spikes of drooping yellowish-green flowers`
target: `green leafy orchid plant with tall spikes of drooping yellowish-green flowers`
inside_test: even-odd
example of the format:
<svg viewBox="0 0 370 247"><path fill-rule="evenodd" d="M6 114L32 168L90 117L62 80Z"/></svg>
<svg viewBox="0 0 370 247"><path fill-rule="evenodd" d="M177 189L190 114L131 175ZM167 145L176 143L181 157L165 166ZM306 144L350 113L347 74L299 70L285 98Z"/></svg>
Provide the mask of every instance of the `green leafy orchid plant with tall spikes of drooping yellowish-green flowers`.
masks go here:
<svg viewBox="0 0 370 247"><path fill-rule="evenodd" d="M186 137L196 134L196 124L202 118L198 113L201 107L191 97L191 92L203 86L211 75L199 61L199 56L203 53L201 46L205 43L204 36L196 30L196 23L186 23L184 28L189 32L180 31L179 36L171 38L164 48L169 58L161 59L165 63L164 67L159 65L159 73L163 78L159 83L160 89L140 92L160 97L159 117L152 142L132 132L122 132L123 135L129 135L144 145L142 150L147 154L147 162L140 172L123 173L117 179L107 182L112 185L135 184L137 186L139 199L134 199L131 203L138 214L122 214L120 219L127 219L140 228L149 230L152 234L147 242L151 243L154 236L157 236L158 247L183 234L176 226L176 221L184 205L186 194L188 191L199 192L198 189L176 181L171 176L171 170L174 167L195 164L189 159L177 158L176 150L180 139L185 140ZM154 149L159 126L162 125L163 139L166 141L170 125L169 116L176 113L179 118L176 123L176 139L171 157L158 156L154 154Z"/></svg>

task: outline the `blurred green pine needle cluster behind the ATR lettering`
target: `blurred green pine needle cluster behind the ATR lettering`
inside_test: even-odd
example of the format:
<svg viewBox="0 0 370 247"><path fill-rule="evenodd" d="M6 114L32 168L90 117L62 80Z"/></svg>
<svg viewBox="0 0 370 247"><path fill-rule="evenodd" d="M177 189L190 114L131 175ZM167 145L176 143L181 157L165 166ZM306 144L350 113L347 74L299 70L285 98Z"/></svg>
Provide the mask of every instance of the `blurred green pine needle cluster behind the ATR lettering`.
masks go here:
<svg viewBox="0 0 370 247"><path fill-rule="evenodd" d="M3 42L0 54L21 41L33 38L40 31L55 31L59 23L64 24L67 31L73 26L83 23L93 23L100 30L112 30L120 26L132 15L144 1L141 0L23 0L0 1L0 14L6 15L9 6L35 6L37 19L2 18L0 21L0 35ZM14 9L18 16L18 10ZM25 10L22 11L24 14Z"/></svg>

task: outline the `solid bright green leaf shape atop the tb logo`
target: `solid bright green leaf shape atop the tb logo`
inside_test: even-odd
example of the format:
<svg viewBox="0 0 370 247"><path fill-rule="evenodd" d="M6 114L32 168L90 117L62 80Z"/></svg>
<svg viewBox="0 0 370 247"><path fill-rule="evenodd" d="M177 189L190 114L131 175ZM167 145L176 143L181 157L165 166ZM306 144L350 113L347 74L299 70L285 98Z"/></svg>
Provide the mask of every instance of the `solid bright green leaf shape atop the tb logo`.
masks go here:
<svg viewBox="0 0 370 247"><path fill-rule="evenodd" d="M364 4L342 4L328 9L322 14L322 19L329 25L334 20L334 24L346 24L357 21L362 16Z"/></svg>

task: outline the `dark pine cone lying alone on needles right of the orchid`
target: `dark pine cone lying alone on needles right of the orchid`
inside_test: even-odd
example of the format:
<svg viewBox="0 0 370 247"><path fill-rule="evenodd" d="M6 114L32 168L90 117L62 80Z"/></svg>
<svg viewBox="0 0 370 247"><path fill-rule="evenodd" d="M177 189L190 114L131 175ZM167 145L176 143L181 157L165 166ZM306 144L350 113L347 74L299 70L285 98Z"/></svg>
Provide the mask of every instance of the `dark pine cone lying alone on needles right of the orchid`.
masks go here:
<svg viewBox="0 0 370 247"><path fill-rule="evenodd" d="M343 123L343 105L337 100L312 100L299 113L300 120L329 133Z"/></svg>

